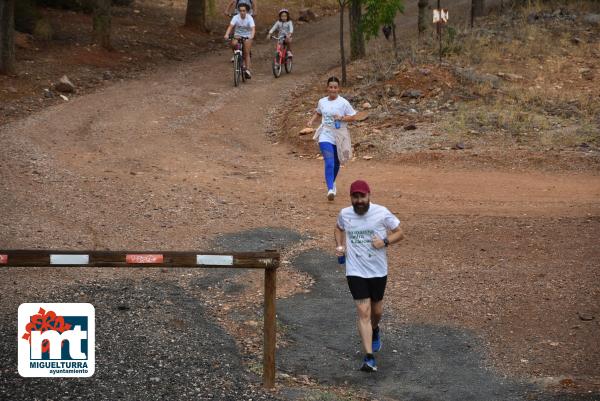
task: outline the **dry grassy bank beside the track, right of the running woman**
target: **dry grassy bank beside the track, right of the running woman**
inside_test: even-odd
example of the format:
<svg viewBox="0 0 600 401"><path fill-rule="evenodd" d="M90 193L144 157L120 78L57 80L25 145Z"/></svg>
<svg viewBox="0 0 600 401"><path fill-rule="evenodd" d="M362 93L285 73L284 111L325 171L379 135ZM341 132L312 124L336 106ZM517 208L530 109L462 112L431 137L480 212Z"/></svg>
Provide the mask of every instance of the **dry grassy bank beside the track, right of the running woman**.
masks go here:
<svg viewBox="0 0 600 401"><path fill-rule="evenodd" d="M366 59L349 65L344 88L358 109L370 105L369 119L352 129L355 155L433 162L462 144L479 154L518 149L563 160L547 151L570 149L576 152L562 154L597 157L600 32L562 17L528 24L528 13L510 11L482 19L474 30L453 29L442 65L431 38L402 44L397 56L387 42L371 44ZM420 95L403 96L413 90ZM314 101L322 96L320 87L308 92ZM310 155L294 131L307 107L287 122L287 131ZM416 128L406 129L411 125Z"/></svg>

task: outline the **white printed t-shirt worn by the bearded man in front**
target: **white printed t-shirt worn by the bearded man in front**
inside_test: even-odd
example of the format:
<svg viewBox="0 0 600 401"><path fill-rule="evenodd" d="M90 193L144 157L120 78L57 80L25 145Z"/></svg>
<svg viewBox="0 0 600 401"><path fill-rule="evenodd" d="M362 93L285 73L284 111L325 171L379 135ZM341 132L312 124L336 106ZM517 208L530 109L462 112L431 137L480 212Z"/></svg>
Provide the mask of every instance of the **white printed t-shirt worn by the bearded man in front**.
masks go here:
<svg viewBox="0 0 600 401"><path fill-rule="evenodd" d="M373 235L383 239L400 220L386 207L371 203L364 215L346 207L338 215L337 225L346 234L346 276L363 278L387 276L386 248L373 246Z"/></svg>

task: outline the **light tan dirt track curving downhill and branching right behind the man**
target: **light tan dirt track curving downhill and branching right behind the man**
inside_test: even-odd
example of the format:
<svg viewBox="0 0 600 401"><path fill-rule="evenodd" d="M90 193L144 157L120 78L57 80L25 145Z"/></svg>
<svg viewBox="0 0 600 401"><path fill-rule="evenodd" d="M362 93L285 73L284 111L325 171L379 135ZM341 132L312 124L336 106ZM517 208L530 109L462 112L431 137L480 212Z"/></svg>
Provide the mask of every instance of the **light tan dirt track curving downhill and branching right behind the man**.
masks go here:
<svg viewBox="0 0 600 401"><path fill-rule="evenodd" d="M292 158L286 144L265 135L269 111L285 112L275 106L337 61L336 37L327 34L334 21L299 35L291 76L272 78L270 48L263 46L256 52L255 78L235 89L223 51L4 126L0 157L10 167L2 169L0 195L6 245L125 247L163 238L182 248L197 246L201 232L252 226L264 215L295 225L309 210L335 213L339 204L321 202L320 162ZM359 176L372 182L380 202L409 214L598 212L595 174L490 174L357 161L342 170L341 192ZM23 204L31 205L27 213ZM209 207L217 204L218 211ZM178 233L184 223L188 227Z"/></svg>

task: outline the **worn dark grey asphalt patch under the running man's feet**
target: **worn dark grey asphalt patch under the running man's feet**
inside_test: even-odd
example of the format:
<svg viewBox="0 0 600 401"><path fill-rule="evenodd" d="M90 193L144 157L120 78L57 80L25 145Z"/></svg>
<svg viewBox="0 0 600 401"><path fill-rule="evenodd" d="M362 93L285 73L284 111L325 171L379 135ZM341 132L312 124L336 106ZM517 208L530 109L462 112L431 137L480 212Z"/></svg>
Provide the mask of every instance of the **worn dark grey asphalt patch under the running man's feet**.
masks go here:
<svg viewBox="0 0 600 401"><path fill-rule="evenodd" d="M280 353L284 371L352 386L377 399L598 399L597 393L557 396L522 378L499 375L490 369L476 333L451 325L402 323L396 311L382 321L383 345L376 355L380 371L365 375L357 369L363 355L343 269L328 254L314 250L300 254L294 264L315 277L316 284L310 294L279 302L281 330L292 343Z"/></svg>

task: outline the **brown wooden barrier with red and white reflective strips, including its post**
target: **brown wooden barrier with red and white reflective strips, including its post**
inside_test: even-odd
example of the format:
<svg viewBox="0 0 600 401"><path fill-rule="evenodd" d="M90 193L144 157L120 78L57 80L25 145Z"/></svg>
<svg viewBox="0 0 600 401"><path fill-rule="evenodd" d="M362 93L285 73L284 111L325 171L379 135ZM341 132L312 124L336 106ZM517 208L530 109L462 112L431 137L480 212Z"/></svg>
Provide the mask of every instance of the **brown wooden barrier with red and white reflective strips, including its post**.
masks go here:
<svg viewBox="0 0 600 401"><path fill-rule="evenodd" d="M275 386L275 296L279 252L0 250L2 267L183 267L264 269L263 385Z"/></svg>

